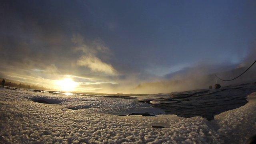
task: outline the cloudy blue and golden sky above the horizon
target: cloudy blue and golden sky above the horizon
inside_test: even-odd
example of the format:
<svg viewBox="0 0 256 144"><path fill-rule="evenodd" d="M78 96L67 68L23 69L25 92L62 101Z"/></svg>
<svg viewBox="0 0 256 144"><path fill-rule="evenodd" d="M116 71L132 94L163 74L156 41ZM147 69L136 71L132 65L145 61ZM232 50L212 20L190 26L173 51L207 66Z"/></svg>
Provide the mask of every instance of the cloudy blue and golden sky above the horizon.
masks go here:
<svg viewBox="0 0 256 144"><path fill-rule="evenodd" d="M0 77L82 92L175 91L171 80L254 62L255 7L254 0L2 0Z"/></svg>

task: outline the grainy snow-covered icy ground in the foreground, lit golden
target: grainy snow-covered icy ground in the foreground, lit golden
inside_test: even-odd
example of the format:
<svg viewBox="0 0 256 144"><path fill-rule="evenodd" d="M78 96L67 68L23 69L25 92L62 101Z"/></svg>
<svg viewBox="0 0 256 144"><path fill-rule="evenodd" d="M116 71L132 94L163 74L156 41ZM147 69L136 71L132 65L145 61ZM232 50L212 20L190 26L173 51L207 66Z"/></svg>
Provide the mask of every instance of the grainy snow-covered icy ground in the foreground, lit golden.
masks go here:
<svg viewBox="0 0 256 144"><path fill-rule="evenodd" d="M256 93L247 98L246 105L209 122L200 116L117 116L148 109L162 113L149 104L124 98L0 88L0 143L243 144L256 134Z"/></svg>

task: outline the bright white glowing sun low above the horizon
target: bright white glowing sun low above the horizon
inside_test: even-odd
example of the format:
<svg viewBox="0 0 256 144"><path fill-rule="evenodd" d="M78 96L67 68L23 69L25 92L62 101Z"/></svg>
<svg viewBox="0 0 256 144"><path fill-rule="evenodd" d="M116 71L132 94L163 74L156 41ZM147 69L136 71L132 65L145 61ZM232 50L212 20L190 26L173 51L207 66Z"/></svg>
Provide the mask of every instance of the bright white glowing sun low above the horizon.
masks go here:
<svg viewBox="0 0 256 144"><path fill-rule="evenodd" d="M64 78L62 80L58 80L56 83L60 90L63 90L66 92L74 91L77 85L77 83L74 82L71 78Z"/></svg>

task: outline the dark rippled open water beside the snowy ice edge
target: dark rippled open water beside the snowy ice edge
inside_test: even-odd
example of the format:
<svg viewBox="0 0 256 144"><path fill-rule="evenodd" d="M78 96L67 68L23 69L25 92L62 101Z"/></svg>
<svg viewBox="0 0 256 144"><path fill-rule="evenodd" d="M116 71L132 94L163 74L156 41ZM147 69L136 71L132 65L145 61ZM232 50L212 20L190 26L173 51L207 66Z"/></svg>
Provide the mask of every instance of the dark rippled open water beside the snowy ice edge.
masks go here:
<svg viewBox="0 0 256 144"><path fill-rule="evenodd" d="M166 114L176 114L177 116L186 118L202 116L207 120L212 120L216 114L245 105L248 102L246 96L255 91L255 83L241 84L239 86L227 86L220 89L159 94L151 96L153 98L157 97L158 104L151 104L151 99L145 99L145 102L151 102L150 104L153 107L163 109ZM166 101L169 101L169 103Z"/></svg>

